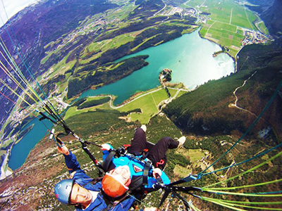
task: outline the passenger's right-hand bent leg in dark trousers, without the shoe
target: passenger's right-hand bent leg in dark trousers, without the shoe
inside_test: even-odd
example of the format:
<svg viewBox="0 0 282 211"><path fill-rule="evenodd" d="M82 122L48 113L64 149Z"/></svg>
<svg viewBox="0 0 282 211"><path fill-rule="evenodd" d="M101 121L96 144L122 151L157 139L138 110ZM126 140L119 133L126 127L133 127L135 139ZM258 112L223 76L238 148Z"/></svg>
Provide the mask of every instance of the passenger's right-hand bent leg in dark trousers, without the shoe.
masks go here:
<svg viewBox="0 0 282 211"><path fill-rule="evenodd" d="M178 147L179 142L171 137L161 138L158 143L149 151L147 158L152 160L154 167L159 167L161 170L166 166L166 151L168 148L173 149ZM163 160L163 161L161 161Z"/></svg>

